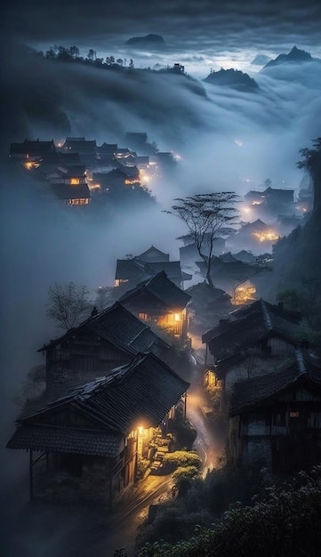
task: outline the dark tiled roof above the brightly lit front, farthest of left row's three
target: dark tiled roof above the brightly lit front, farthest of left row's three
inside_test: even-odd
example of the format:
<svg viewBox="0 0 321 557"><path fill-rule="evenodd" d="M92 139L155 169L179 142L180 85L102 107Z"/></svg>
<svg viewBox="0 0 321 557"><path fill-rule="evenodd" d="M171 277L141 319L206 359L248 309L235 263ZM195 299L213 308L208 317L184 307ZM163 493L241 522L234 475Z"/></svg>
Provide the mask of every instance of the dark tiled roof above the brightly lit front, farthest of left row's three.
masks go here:
<svg viewBox="0 0 321 557"><path fill-rule="evenodd" d="M167 310L182 310L191 299L190 295L181 290L180 287L176 287L172 280L167 278L164 270L156 274L155 277L144 280L137 287L126 292L120 298L120 302L126 304L141 294L152 296L158 303L163 303Z"/></svg>

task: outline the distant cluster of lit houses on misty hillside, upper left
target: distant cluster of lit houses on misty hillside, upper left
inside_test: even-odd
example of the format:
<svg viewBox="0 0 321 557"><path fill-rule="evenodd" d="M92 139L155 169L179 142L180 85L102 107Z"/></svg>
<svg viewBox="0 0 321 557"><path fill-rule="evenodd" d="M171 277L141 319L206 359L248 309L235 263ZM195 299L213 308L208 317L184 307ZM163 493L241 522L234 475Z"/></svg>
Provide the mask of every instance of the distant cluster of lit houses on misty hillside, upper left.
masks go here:
<svg viewBox="0 0 321 557"><path fill-rule="evenodd" d="M62 202L87 206L98 194L110 197L129 188L146 189L175 164L171 152L160 152L148 143L146 133L126 133L124 141L129 147L97 145L84 137L67 137L57 143L25 139L11 143L9 157L37 181L48 184Z"/></svg>

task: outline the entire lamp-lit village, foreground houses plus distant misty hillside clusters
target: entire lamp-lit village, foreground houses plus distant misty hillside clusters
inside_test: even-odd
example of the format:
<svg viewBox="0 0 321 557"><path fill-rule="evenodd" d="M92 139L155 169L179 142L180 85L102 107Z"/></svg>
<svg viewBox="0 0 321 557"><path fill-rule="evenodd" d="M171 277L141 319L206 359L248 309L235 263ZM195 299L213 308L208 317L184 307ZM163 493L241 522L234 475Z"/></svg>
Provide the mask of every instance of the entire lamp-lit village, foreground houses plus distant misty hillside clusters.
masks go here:
<svg viewBox="0 0 321 557"><path fill-rule="evenodd" d="M124 144L25 140L9 157L70 211L90 211L97 199L152 194L180 164L146 133L127 133ZM113 513L150 476L170 479L172 495L183 496L186 479L212 469L259 465L278 479L320 463L313 320L286 296L265 297L275 244L304 226L314 203L312 182L295 197L267 180L240 198L237 224L222 218L214 235L206 230L204 257L190 230L173 238L182 244L178 261L148 244L119 254L114 284L38 348L42 389L7 443L29 453L31 500ZM197 454L196 408L224 439L210 468Z"/></svg>

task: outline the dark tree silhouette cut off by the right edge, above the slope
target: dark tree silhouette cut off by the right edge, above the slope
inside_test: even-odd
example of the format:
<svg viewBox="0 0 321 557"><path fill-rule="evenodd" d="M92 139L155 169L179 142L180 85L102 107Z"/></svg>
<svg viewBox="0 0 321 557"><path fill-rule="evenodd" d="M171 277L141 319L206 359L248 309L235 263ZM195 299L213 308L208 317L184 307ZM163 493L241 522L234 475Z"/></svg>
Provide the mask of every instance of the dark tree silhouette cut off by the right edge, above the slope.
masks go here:
<svg viewBox="0 0 321 557"><path fill-rule="evenodd" d="M321 137L312 141L313 149L300 149L297 166L307 170L313 182L313 211L321 212Z"/></svg>

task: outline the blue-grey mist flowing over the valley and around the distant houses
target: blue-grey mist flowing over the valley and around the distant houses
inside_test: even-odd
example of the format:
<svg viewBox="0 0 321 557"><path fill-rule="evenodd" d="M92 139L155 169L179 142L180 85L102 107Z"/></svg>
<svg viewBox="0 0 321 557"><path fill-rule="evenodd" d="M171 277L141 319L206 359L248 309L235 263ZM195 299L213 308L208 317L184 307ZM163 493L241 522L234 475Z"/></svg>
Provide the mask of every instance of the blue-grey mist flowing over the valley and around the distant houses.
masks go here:
<svg viewBox="0 0 321 557"><path fill-rule="evenodd" d="M90 40L87 37L84 48L95 46ZM1 137L4 426L0 456L4 484L26 471L25 456L4 449L19 413L14 400L31 367L44 363L36 351L59 334L45 316L48 288L54 282L74 281L87 286L93 296L98 287L113 286L117 258L140 254L151 244L178 260L180 244L175 238L187 230L163 212L173 198L220 190L243 195L263 188L267 178L272 187L299 188L299 149L309 147L320 134L320 67L311 63L269 72L248 69L259 89L240 93L203 81L211 68L221 65L229 68L235 62L234 67L245 70L237 47L229 55L218 47L216 52L204 47L199 54L195 36L189 41L189 52L181 46L163 54L127 53L122 48L113 52L115 41L110 46L101 41L100 46L109 55L127 53L129 58L132 54L136 68L181 62L190 77L143 69L131 75L51 62L18 44L8 43L2 53L6 110ZM44 44L41 36L39 44ZM290 40L289 45L293 45ZM254 50L250 44L249 66ZM280 52L277 44L274 52ZM156 203L148 209L124 206L105 218L103 214L86 218L17 179L7 161L10 143L25 137L58 141L84 135L98 145L106 141L126 147L126 132L146 132L158 149L181 157L175 174L151 185Z"/></svg>

